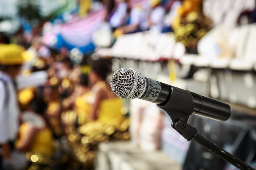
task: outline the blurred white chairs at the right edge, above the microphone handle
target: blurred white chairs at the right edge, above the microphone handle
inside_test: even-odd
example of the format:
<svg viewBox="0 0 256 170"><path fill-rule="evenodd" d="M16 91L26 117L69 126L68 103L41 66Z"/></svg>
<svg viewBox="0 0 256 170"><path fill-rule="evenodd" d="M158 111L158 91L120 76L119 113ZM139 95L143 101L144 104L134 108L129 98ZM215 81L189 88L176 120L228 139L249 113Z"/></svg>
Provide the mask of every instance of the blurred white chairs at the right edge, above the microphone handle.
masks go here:
<svg viewBox="0 0 256 170"><path fill-rule="evenodd" d="M180 59L180 63L197 67L256 71L255 45L255 24L214 28L199 41L200 55L186 54Z"/></svg>

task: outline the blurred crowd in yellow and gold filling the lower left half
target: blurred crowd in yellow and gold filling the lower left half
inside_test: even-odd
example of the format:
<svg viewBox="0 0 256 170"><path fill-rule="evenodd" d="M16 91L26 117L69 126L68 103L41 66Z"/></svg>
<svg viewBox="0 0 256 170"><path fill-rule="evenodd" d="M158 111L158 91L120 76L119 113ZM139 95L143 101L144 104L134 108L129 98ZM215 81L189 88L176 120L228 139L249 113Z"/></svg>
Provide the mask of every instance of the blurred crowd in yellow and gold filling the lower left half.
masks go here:
<svg viewBox="0 0 256 170"><path fill-rule="evenodd" d="M25 50L1 35L1 169L93 168L98 142L129 139L111 60L44 48L40 36Z"/></svg>

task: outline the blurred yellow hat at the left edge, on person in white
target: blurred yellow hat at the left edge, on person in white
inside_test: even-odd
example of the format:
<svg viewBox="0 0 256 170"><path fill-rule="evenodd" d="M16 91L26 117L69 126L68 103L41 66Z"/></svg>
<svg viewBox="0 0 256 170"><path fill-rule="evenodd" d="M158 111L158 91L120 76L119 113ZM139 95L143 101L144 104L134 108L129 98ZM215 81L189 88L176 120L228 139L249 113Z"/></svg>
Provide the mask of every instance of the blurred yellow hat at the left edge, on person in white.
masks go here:
<svg viewBox="0 0 256 170"><path fill-rule="evenodd" d="M19 65L33 59L33 54L15 44L0 44L0 64Z"/></svg>

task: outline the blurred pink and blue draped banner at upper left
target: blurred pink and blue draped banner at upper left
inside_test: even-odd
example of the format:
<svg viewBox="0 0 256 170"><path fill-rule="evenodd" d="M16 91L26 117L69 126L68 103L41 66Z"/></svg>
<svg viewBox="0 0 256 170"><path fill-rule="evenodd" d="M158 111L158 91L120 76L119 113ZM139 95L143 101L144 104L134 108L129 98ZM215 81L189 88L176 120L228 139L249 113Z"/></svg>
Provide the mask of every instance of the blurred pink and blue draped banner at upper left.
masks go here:
<svg viewBox="0 0 256 170"><path fill-rule="evenodd" d="M94 50L93 31L99 28L107 14L106 8L89 12L82 18L74 18L69 23L54 25L43 35L43 43L49 47L77 47L82 53Z"/></svg>

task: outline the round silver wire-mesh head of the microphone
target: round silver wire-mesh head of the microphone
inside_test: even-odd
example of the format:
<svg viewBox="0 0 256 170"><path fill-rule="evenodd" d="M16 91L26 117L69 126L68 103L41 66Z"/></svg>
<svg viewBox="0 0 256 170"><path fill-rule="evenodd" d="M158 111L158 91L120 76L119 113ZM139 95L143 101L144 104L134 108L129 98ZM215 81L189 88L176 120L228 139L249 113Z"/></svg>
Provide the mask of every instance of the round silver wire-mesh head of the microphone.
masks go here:
<svg viewBox="0 0 256 170"><path fill-rule="evenodd" d="M134 69L122 68L115 71L110 86L112 91L120 98L140 98L146 90L146 79Z"/></svg>

